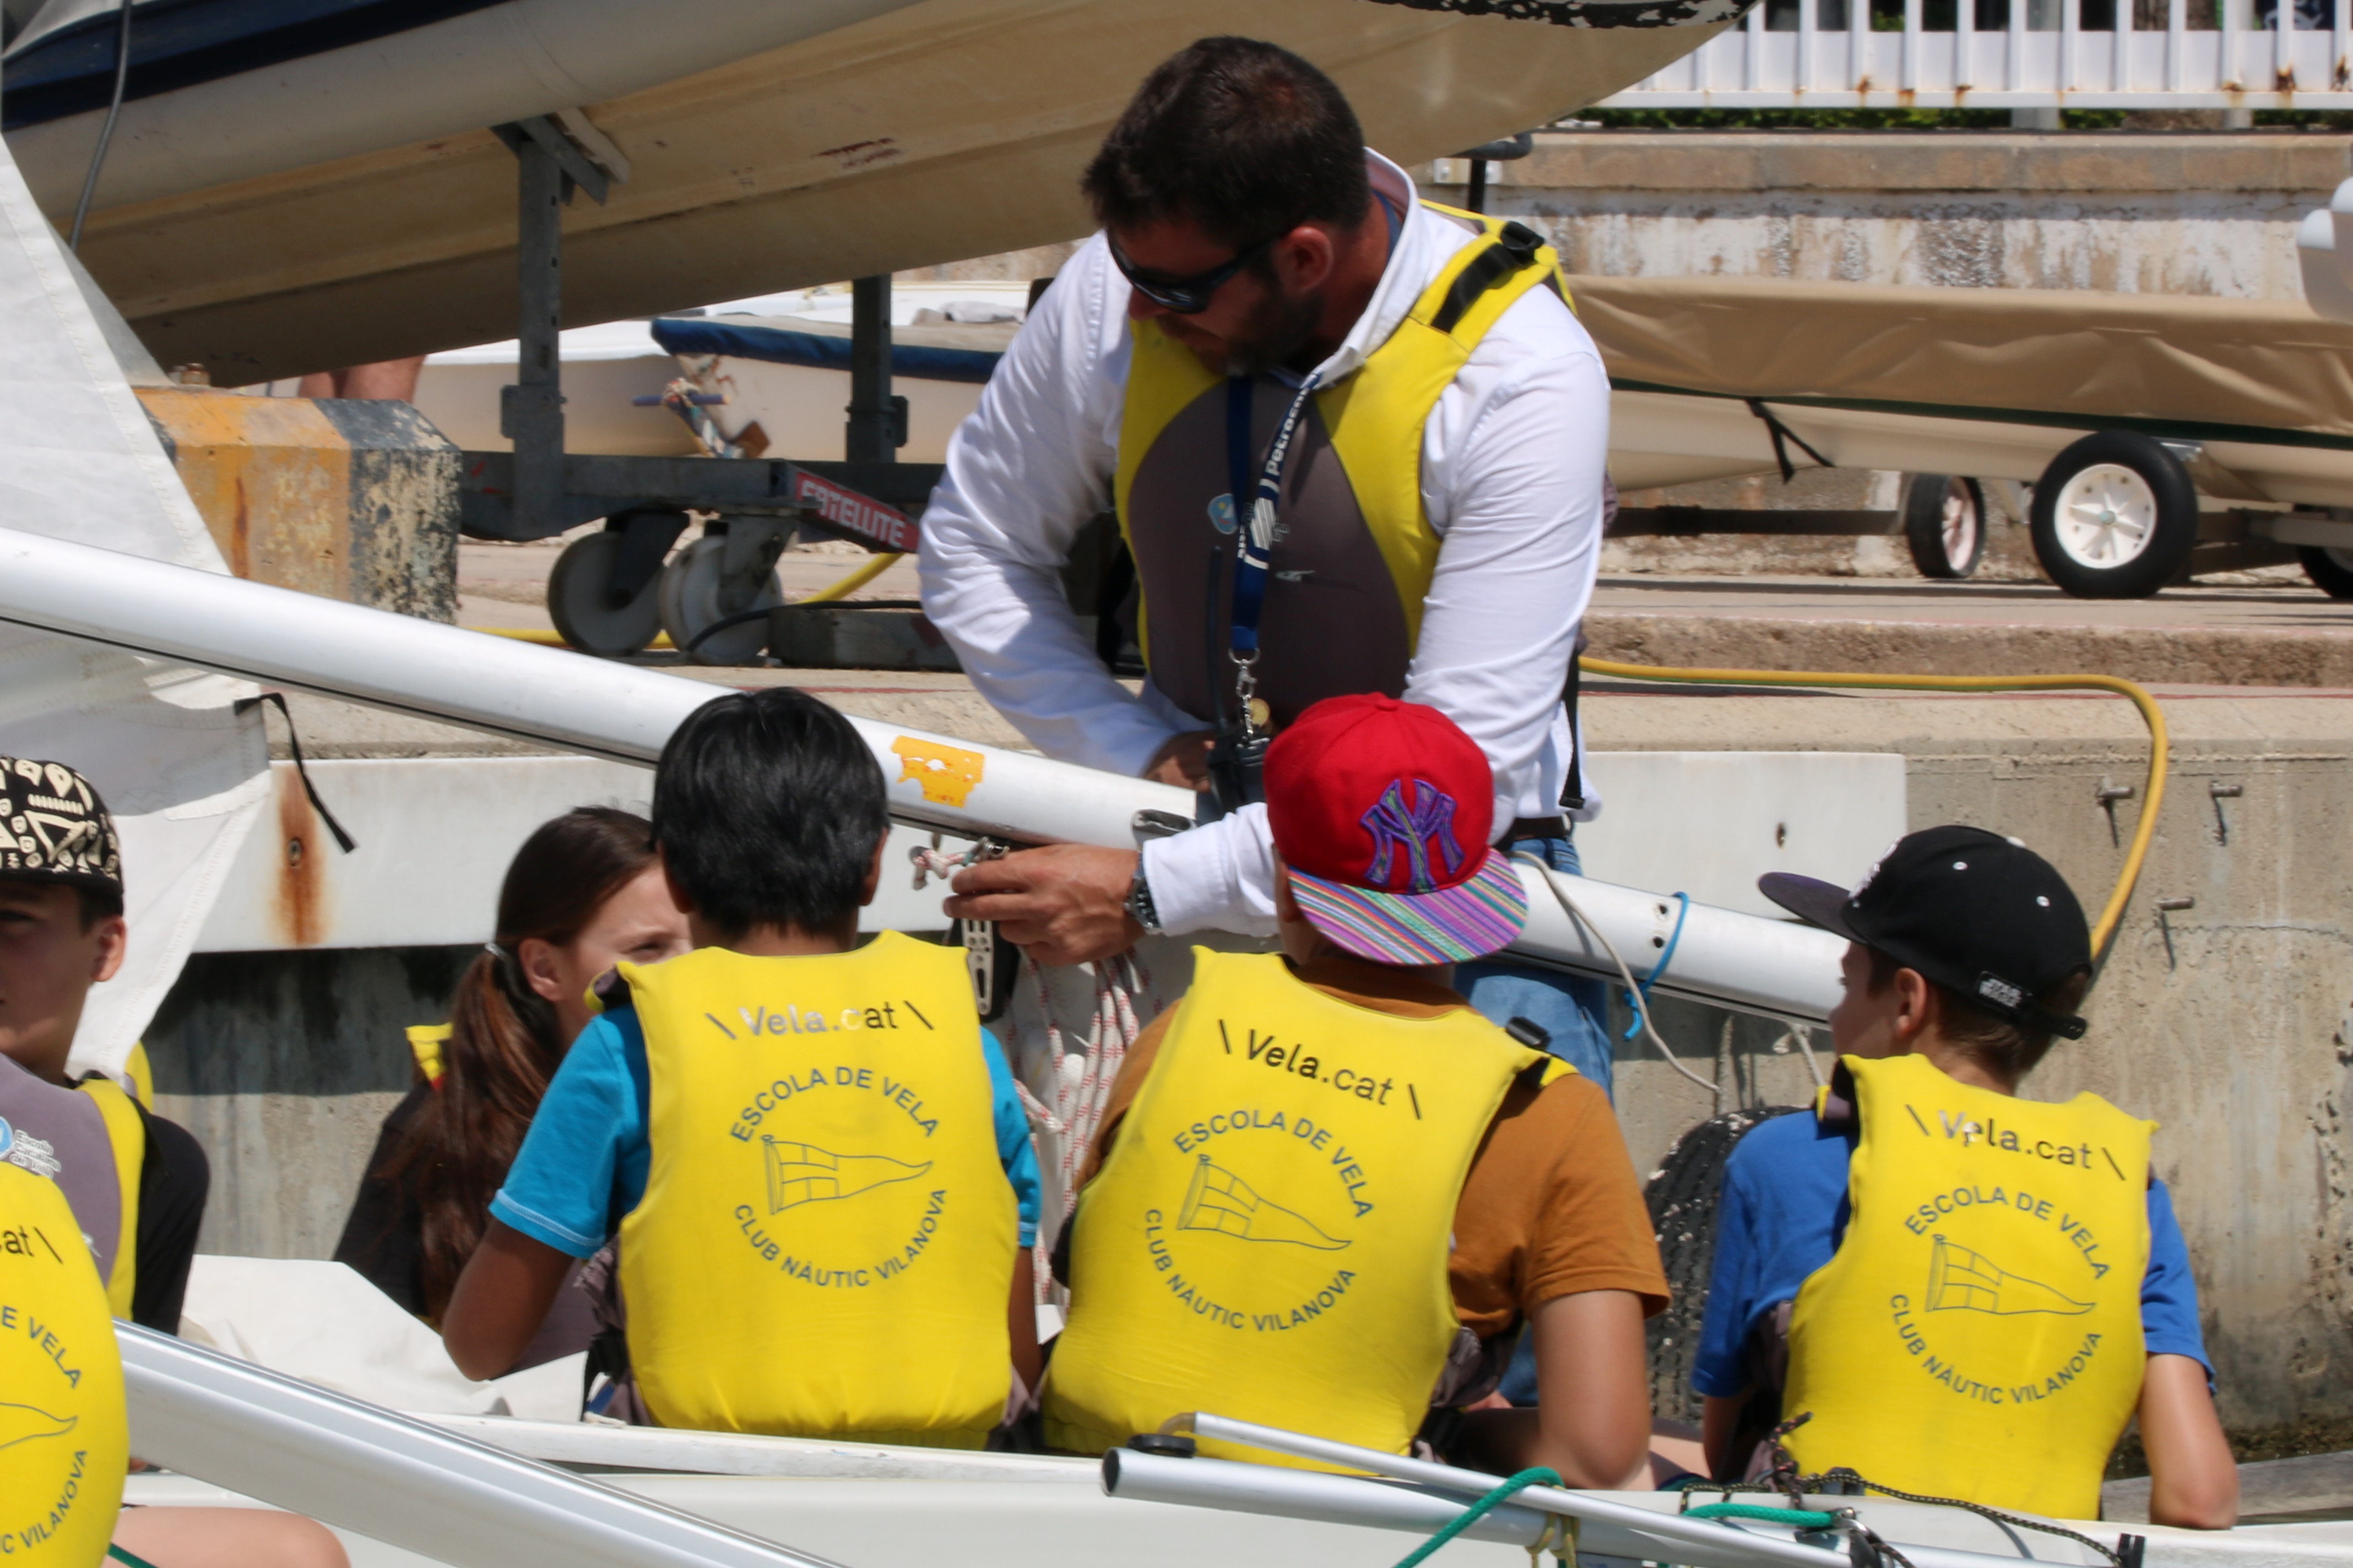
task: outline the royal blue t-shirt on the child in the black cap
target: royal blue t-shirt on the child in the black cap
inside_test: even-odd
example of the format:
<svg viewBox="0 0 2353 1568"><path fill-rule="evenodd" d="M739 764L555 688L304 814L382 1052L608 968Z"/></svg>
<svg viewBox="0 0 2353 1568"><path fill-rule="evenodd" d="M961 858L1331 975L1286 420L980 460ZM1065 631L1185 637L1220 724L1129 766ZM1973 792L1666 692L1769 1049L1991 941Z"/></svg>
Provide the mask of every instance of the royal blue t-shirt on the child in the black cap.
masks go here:
<svg viewBox="0 0 2353 1568"><path fill-rule="evenodd" d="M1826 1131L1812 1114L1755 1126L1725 1161L1715 1215L1715 1267L1699 1328L1692 1387L1732 1399L1751 1385L1748 1335L1831 1260L1847 1232L1847 1159L1854 1128ZM2205 1359L2198 1281L2174 1222L2165 1182L2148 1182L2148 1272L2141 1276L2141 1338L2153 1356Z"/></svg>

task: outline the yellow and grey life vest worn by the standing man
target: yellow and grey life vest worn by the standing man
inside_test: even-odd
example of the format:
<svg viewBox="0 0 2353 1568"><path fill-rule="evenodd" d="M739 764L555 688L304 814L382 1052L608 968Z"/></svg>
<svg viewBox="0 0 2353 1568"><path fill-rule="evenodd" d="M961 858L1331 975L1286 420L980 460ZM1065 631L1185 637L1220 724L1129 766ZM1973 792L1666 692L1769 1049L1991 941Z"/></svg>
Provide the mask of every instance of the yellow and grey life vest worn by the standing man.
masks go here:
<svg viewBox="0 0 2353 1568"><path fill-rule="evenodd" d="M1504 310L1529 289L1562 287L1551 247L1520 263L1499 242L1499 219L1426 207L1487 240L1447 261L1353 376L1315 393L1292 440L1259 625L1259 691L1278 726L1327 696L1405 693L1438 569L1438 531L1421 510L1421 428ZM1212 689L1212 665L1226 668L1233 618L1228 388L1153 322L1134 322L1132 341L1113 503L1141 585L1136 642L1153 686L1217 722L1224 686ZM1273 376L1257 381L1252 475L1292 395Z"/></svg>

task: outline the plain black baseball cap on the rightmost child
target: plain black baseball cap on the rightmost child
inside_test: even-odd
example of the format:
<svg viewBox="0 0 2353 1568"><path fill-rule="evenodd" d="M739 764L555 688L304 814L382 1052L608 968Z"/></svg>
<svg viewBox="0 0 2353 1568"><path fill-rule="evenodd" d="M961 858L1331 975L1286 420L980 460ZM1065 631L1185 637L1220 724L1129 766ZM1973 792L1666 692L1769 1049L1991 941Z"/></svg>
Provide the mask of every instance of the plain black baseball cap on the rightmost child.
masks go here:
<svg viewBox="0 0 2353 1568"><path fill-rule="evenodd" d="M2082 1039L2082 1018L2049 1013L2035 997L2092 969L2092 931L2066 879L2017 839L1922 827L1897 839L1852 893L1788 872L1758 877L1758 891L1988 1013Z"/></svg>

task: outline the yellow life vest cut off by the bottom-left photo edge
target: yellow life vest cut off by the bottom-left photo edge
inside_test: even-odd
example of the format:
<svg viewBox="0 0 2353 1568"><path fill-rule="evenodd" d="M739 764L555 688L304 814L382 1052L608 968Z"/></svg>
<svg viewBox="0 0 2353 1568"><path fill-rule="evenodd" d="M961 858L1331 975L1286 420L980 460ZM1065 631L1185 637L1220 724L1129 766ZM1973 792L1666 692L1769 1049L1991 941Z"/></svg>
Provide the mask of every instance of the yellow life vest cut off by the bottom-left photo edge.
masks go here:
<svg viewBox="0 0 2353 1568"><path fill-rule="evenodd" d="M56 1182L0 1164L0 1563L94 1568L129 1436L106 1288Z"/></svg>

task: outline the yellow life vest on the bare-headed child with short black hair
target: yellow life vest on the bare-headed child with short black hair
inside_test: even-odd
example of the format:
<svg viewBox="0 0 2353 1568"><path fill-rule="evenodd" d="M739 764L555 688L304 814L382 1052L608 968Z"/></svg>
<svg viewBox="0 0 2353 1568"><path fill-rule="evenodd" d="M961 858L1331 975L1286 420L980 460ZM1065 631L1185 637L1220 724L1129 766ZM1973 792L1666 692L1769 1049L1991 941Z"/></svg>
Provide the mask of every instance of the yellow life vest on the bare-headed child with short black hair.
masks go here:
<svg viewBox="0 0 2353 1568"><path fill-rule="evenodd" d="M962 957L885 931L621 978L652 1081L621 1295L654 1420L979 1448L1019 1225Z"/></svg>

